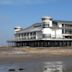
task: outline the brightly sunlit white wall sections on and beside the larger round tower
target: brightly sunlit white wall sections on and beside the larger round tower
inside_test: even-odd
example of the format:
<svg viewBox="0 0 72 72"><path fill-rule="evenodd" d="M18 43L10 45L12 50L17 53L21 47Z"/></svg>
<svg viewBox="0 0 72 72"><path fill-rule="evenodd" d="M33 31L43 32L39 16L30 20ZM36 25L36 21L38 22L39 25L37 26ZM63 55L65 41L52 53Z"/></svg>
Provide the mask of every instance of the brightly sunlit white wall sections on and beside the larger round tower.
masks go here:
<svg viewBox="0 0 72 72"><path fill-rule="evenodd" d="M46 22L49 22L49 27L52 27L52 21L47 20ZM58 23L58 27L62 27L61 23ZM51 38L63 38L62 37L62 29L51 29L51 28L43 28L42 30L43 34L51 34Z"/></svg>

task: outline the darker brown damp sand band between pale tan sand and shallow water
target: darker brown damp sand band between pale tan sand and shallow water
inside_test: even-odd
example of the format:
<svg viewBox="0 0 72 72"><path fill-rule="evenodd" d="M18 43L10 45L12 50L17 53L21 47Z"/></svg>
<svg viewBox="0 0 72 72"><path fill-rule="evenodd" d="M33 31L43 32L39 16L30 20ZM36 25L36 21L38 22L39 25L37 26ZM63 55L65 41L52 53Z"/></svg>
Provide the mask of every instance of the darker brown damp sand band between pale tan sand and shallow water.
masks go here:
<svg viewBox="0 0 72 72"><path fill-rule="evenodd" d="M5 64L5 63L19 63L19 62L31 62L31 61L37 61L37 60L45 60L46 58L49 58L49 57L59 57L59 56L50 56L50 55L33 55L33 54L30 54L30 55L0 55L0 64Z"/></svg>

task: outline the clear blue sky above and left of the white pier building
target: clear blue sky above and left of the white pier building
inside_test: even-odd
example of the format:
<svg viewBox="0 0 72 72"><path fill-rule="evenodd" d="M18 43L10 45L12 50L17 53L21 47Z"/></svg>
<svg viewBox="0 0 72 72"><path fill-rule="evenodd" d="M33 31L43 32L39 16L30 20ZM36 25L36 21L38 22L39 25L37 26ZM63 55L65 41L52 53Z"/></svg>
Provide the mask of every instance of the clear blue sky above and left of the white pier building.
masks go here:
<svg viewBox="0 0 72 72"><path fill-rule="evenodd" d="M72 0L0 0L0 46L14 34L14 27L28 27L41 17L72 20Z"/></svg>

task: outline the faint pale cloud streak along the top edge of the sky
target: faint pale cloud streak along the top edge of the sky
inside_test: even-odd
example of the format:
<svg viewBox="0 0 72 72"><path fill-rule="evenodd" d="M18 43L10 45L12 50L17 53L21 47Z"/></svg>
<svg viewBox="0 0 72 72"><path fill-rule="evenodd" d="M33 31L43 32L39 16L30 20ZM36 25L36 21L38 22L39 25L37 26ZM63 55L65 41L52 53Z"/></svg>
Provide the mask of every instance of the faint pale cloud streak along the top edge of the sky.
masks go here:
<svg viewBox="0 0 72 72"><path fill-rule="evenodd" d="M48 0L0 0L0 5L44 4Z"/></svg>

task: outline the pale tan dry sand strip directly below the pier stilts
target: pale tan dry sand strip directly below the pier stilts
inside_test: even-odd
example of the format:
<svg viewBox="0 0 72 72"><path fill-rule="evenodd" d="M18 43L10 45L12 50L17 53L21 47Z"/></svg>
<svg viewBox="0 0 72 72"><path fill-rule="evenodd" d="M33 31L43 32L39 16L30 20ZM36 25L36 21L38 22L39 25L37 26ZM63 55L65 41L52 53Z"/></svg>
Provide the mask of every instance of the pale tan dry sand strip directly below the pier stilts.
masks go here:
<svg viewBox="0 0 72 72"><path fill-rule="evenodd" d="M0 48L0 57L7 56L72 56L72 49L70 48L30 48L30 47L7 47Z"/></svg>

